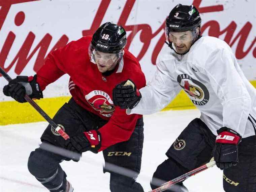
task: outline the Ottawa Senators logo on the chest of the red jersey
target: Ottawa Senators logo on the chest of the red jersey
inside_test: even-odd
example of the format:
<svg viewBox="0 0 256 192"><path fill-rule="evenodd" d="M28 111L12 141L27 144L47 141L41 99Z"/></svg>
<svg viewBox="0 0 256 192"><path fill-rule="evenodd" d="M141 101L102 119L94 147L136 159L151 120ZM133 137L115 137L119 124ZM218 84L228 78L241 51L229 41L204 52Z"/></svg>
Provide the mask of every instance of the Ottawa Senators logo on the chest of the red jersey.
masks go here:
<svg viewBox="0 0 256 192"><path fill-rule="evenodd" d="M106 92L94 90L86 95L85 98L94 110L100 112L100 115L104 117L111 117L113 115L115 105Z"/></svg>

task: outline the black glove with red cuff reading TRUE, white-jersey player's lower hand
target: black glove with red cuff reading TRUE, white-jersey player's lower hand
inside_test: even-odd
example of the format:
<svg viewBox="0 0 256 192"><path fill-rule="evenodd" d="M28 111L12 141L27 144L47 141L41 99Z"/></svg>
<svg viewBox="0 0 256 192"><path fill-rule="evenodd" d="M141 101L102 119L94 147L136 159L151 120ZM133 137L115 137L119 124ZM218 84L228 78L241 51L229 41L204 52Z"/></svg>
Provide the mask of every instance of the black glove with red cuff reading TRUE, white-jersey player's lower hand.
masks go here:
<svg viewBox="0 0 256 192"><path fill-rule="evenodd" d="M222 127L217 130L216 144L213 149L214 160L221 170L238 163L238 144L242 137L232 129Z"/></svg>

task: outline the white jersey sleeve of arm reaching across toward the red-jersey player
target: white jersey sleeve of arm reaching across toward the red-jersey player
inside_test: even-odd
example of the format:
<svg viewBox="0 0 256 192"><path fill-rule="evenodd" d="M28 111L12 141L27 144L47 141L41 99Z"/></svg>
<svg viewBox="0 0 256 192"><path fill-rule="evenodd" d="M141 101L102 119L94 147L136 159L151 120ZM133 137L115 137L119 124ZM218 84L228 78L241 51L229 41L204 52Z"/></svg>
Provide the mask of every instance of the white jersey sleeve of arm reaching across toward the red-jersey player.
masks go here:
<svg viewBox="0 0 256 192"><path fill-rule="evenodd" d="M127 109L127 114L149 115L156 113L175 98L181 91L181 87L169 76L168 69L160 61L157 63L157 70L151 82L139 91L141 93L139 103L133 109Z"/></svg>

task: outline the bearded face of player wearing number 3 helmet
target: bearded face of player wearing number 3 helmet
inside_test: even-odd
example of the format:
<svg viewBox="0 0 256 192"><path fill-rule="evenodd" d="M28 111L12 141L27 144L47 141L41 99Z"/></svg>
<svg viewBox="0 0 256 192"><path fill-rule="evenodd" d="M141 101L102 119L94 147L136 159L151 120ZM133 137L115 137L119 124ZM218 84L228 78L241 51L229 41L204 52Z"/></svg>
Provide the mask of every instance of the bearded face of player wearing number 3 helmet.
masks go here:
<svg viewBox="0 0 256 192"><path fill-rule="evenodd" d="M193 42L193 35L191 31L170 32L169 40L174 44L176 52L183 54L190 49Z"/></svg>

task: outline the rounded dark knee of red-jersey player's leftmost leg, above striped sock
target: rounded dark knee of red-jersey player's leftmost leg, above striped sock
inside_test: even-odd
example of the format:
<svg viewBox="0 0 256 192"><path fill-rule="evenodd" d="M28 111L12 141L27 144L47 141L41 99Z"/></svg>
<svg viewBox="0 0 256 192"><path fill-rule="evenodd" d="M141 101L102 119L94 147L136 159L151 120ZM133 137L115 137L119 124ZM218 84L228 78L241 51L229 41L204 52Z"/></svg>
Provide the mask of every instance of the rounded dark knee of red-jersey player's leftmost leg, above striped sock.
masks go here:
<svg viewBox="0 0 256 192"><path fill-rule="evenodd" d="M44 178L53 174L61 161L61 157L54 153L36 149L28 158L28 170L35 177Z"/></svg>

